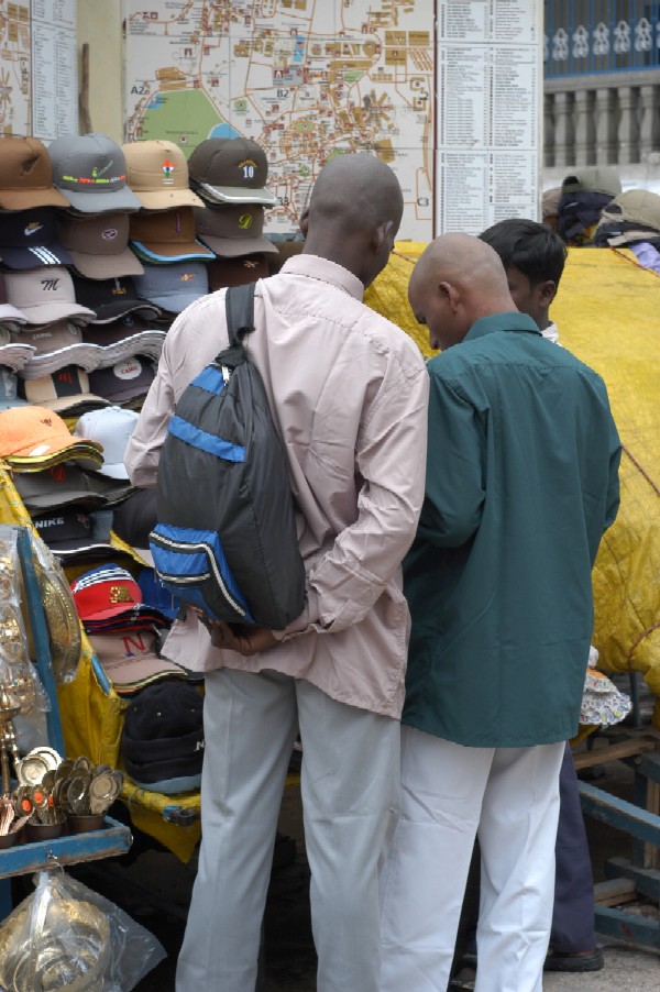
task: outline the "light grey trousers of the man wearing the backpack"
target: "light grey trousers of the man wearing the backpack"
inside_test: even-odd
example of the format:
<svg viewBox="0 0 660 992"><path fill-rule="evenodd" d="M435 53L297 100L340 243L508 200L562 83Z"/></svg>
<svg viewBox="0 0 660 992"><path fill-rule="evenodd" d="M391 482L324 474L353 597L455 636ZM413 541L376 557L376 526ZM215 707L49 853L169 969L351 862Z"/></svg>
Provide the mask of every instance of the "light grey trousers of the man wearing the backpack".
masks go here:
<svg viewBox="0 0 660 992"><path fill-rule="evenodd" d="M254 990L277 817L300 728L319 992L377 992L378 872L399 802L399 724L308 682L206 676L202 841L177 992Z"/></svg>

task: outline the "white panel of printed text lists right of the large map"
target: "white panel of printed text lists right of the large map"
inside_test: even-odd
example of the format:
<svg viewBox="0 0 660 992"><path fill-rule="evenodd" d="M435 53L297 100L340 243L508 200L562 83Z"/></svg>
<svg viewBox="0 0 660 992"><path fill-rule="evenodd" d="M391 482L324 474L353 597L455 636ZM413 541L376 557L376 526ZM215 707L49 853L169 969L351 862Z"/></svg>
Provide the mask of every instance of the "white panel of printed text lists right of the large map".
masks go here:
<svg viewBox="0 0 660 992"><path fill-rule="evenodd" d="M539 216L542 7L439 0L437 233Z"/></svg>

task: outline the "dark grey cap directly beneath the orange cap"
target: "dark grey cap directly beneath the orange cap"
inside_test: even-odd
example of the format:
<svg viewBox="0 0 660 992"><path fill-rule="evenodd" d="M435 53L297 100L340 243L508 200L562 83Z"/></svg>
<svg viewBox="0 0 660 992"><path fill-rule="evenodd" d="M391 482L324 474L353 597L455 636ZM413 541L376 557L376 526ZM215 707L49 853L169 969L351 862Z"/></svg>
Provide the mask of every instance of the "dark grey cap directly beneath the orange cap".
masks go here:
<svg viewBox="0 0 660 992"><path fill-rule="evenodd" d="M133 492L132 486L109 484L72 462L51 465L40 472L16 473L13 483L31 514L73 505L88 509L108 507Z"/></svg>

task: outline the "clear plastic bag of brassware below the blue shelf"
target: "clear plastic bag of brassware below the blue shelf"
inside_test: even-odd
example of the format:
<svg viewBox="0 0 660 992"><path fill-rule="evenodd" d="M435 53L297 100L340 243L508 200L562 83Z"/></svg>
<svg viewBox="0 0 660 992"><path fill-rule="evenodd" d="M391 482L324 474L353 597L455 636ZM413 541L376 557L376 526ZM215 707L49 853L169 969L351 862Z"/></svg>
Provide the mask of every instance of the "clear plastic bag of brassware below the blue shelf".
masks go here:
<svg viewBox="0 0 660 992"><path fill-rule="evenodd" d="M59 868L38 872L0 926L4 992L131 992L165 957L148 930Z"/></svg>

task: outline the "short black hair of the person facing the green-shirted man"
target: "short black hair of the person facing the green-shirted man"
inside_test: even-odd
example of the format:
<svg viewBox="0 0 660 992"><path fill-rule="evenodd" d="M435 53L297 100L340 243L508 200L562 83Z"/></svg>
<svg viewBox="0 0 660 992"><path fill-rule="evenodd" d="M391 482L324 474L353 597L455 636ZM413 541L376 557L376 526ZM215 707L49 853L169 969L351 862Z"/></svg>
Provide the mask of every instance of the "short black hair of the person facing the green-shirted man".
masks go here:
<svg viewBox="0 0 660 992"><path fill-rule="evenodd" d="M559 286L566 246L551 228L514 217L498 221L479 236L497 252L505 268L520 269L530 286L548 279Z"/></svg>

